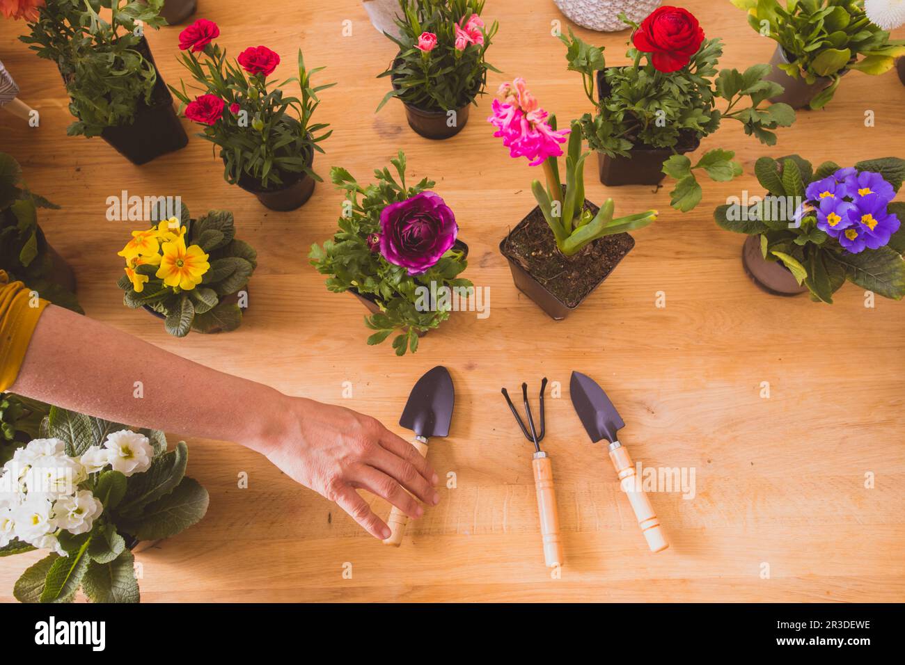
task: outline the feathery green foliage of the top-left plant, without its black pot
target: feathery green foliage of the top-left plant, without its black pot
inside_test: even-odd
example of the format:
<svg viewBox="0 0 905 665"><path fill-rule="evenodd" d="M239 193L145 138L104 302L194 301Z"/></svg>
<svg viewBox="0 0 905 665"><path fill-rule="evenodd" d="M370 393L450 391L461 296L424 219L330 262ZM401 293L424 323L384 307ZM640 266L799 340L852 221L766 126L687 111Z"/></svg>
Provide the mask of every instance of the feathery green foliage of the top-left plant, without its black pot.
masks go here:
<svg viewBox="0 0 905 665"><path fill-rule="evenodd" d="M145 28L167 22L164 0L48 0L25 14L30 34L20 39L60 67L69 109L77 119L70 135L99 136L104 128L130 125L139 101L151 102L154 64L138 50ZM110 14L101 17L101 9Z"/></svg>

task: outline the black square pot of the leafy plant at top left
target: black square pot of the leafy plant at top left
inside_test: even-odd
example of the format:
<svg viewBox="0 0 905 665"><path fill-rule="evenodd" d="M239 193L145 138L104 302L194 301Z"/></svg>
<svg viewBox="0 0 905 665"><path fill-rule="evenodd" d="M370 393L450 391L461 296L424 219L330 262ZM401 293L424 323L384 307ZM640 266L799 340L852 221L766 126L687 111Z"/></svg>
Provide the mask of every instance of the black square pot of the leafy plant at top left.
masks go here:
<svg viewBox="0 0 905 665"><path fill-rule="evenodd" d="M154 56L144 37L136 48L154 64ZM154 69L157 70L156 64ZM155 157L188 145L186 130L182 128L173 108L173 96L167 90L167 84L159 70L151 92L151 104L148 106L144 100L138 100L132 124L105 128L100 133L100 138L136 165L146 164Z"/></svg>

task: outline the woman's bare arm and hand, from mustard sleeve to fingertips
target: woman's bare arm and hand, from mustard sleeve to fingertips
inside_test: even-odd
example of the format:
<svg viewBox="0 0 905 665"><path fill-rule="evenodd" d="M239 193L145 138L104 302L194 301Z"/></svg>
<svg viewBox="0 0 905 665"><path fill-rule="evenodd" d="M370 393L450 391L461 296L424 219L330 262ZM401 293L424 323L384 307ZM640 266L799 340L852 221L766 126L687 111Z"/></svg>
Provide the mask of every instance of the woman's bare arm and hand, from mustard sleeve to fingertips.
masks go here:
<svg viewBox="0 0 905 665"><path fill-rule="evenodd" d="M137 381L141 398L133 396ZM239 442L336 501L374 537L390 530L355 489L410 518L424 511L405 489L432 505L440 500L430 464L374 418L217 372L53 305L10 392L119 423Z"/></svg>

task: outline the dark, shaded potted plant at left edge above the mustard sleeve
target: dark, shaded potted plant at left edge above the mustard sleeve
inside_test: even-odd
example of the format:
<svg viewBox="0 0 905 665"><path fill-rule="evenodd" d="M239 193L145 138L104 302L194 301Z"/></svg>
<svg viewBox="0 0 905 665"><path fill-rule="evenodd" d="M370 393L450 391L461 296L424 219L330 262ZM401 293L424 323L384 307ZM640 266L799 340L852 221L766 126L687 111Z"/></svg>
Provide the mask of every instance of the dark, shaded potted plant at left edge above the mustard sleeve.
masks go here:
<svg viewBox="0 0 905 665"><path fill-rule="evenodd" d="M19 163L0 153L0 270L54 305L83 314L74 294L75 273L44 238L38 207L60 206L28 191Z"/></svg>

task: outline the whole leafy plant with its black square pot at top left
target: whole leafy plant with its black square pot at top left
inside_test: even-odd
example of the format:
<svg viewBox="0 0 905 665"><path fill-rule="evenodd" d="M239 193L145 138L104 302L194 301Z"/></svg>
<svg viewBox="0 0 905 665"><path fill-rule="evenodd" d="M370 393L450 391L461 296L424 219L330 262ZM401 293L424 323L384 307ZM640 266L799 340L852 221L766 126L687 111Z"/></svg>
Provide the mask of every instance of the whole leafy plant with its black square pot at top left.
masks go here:
<svg viewBox="0 0 905 665"><path fill-rule="evenodd" d="M67 132L100 136L133 164L186 147L173 98L144 36L164 21L163 0L49 0L20 37L57 63L76 121ZM99 14L110 8L110 20ZM26 19L28 20L28 19Z"/></svg>

